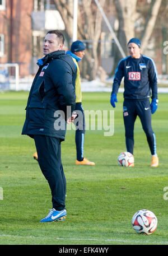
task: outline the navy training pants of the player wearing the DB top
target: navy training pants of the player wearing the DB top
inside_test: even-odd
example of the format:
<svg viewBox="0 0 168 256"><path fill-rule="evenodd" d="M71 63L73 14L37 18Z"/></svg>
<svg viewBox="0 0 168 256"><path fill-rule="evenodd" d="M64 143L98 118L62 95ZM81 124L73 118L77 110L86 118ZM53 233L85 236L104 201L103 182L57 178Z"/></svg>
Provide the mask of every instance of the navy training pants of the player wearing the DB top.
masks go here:
<svg viewBox="0 0 168 256"><path fill-rule="evenodd" d="M132 101L124 100L123 103L123 118L125 125L125 143L127 151L133 154L134 148L134 123L138 117L141 120L142 128L146 133L147 142L150 147L151 155L156 154L156 137L152 130L151 124L151 108L150 101Z"/></svg>

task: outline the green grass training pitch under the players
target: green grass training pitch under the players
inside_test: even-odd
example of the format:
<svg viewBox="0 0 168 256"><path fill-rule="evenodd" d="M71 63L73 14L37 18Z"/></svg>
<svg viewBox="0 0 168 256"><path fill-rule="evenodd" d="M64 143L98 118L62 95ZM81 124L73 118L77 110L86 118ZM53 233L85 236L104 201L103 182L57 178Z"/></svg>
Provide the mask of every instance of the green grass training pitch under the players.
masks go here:
<svg viewBox="0 0 168 256"><path fill-rule="evenodd" d="M158 110L152 115L160 158L157 168L150 167L150 150L139 119L134 129L135 167L117 163L119 153L125 151L122 94L118 94L115 108L114 135L104 136L104 131L97 129L86 131L85 157L95 161L95 166L74 165L74 131L67 131L62 143L67 218L46 224L39 221L52 208L49 185L32 158L33 139L21 136L27 96L28 92L22 91L0 94L0 244L168 244L168 201L164 200L168 186L168 95L159 95ZM83 93L83 108L114 110L110 94L99 92ZM139 235L132 228L132 216L145 208L158 220L150 236Z"/></svg>

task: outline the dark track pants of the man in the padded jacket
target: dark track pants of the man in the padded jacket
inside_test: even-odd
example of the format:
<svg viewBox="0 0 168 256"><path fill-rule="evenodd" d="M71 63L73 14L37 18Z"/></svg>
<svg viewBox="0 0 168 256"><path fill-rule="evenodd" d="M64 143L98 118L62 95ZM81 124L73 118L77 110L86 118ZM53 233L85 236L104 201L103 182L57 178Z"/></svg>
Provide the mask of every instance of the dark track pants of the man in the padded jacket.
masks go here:
<svg viewBox="0 0 168 256"><path fill-rule="evenodd" d="M61 211L66 206L66 178L61 161L60 139L35 135L34 141L40 169L52 192L53 208Z"/></svg>

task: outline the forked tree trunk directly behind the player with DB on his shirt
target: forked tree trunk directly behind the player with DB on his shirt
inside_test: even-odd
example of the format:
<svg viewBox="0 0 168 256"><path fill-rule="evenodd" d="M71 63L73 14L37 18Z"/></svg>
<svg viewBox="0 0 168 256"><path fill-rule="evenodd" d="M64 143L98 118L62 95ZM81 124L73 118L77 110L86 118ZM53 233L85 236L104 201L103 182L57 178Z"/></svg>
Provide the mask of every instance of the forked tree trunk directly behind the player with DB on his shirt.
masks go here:
<svg viewBox="0 0 168 256"><path fill-rule="evenodd" d="M141 52L143 53L155 27L162 0L152 0L151 3L143 1L143 8L142 10L138 10L138 12L138 0L114 0L114 3L119 19L118 40L125 54L128 54L127 42L133 37L138 37L141 40ZM145 22L142 24L142 32L136 33L135 24L139 18L142 18ZM122 56L115 47L113 73L120 58L122 58Z"/></svg>

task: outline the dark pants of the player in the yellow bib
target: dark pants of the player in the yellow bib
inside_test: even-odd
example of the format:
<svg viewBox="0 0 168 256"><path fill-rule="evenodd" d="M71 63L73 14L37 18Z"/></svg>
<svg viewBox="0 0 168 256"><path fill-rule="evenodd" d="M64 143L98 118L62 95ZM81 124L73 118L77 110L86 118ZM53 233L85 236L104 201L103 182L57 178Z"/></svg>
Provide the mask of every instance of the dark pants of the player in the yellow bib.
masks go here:
<svg viewBox="0 0 168 256"><path fill-rule="evenodd" d="M75 133L75 143L76 143L76 152L77 152L77 160L82 161L83 160L83 151L84 151L84 139L85 139L85 114L82 108L81 103L76 103L75 110L78 114L78 111L80 111L80 114L77 115L77 118L79 119L77 122L74 120L74 125L76 125L76 133Z"/></svg>

